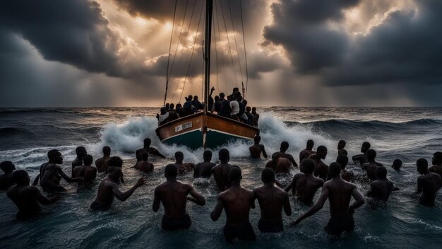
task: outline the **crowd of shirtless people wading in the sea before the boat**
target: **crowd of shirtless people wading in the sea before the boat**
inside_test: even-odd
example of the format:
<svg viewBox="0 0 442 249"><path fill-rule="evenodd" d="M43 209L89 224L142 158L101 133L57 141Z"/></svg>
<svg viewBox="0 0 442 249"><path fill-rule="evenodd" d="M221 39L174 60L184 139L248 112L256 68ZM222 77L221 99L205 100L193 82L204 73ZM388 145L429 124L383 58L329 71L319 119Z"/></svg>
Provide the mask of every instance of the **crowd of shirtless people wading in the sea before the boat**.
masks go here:
<svg viewBox="0 0 442 249"><path fill-rule="evenodd" d="M254 144L249 147L251 158L261 158L261 155L268 158L265 146L260 144L261 137L256 136ZM256 234L249 221L249 212L255 208L255 200L261 209L261 219L258 222L258 229L262 233L278 233L284 230L282 224L282 212L287 216L292 214L292 207L289 200L289 192L292 192L299 205L308 205L310 209L299 216L290 224L299 224L302 220L315 214L323 208L325 201L330 203L330 220L325 231L333 236L340 236L341 233L352 233L354 230L354 210L361 207L366 199L359 192L356 185L355 174L346 169L349 158L345 150L345 141L338 143L338 156L334 163L327 165L323 160L328 155L325 146L318 146L313 151L314 142L306 142L306 148L299 153L299 166L291 154L287 154L289 143L282 141L280 151L271 155L271 160L265 165L261 173L263 185L254 190L247 190L241 187L242 171L240 166L229 163L230 156L227 149L218 151L219 164L212 162L212 151L206 150L203 153L203 162L198 164L184 163L184 154L177 151L174 154L175 162L165 166L165 183L155 188L153 199L153 212L164 207L165 214L162 218L162 228L167 231L186 229L191 226L191 217L186 212L186 202L191 201L198 205L205 204L205 197L196 192L191 184L181 183L177 180L180 174L193 172L194 178L212 178L215 181L219 195L215 208L210 213L211 219L217 221L225 210L227 216L223 229L225 239L232 242L236 239L254 240ZM155 170L150 156L166 158L157 149L153 148L150 139L144 140L144 146L135 153L136 170L149 173ZM370 149L371 144L364 142L361 153L353 156L352 160L365 171L366 180L362 184L370 187L366 197L371 200L386 204L393 191L398 190L395 184L387 178L388 170L382 163L376 161L376 151ZM40 214L40 204L52 204L60 197L60 192L66 189L60 185L61 178L68 183L90 183L95 181L97 173L107 173L97 189L97 197L90 204L90 209L106 211L112 207L114 197L121 202L131 197L133 192L144 185L149 175L144 175L129 190L121 191L119 183L124 183L122 171L123 161L119 156L111 156L111 148L104 146L103 156L95 161L83 146L76 149L77 157L71 163L71 176L64 173L61 168L63 156L60 151L52 149L47 153L48 161L40 166L40 174L37 175L32 186L26 170L16 170L11 161L0 163L4 175L0 175L0 189L7 190L7 196L18 207L17 218L20 220L29 219ZM419 158L416 161L417 172L417 195L419 203L426 206L434 206L438 190L442 185L442 152L434 153L429 167L428 161ZM402 161L396 159L392 168L400 170ZM299 173L294 176L290 174L293 168L299 168ZM281 174L289 176L288 184L277 180ZM279 178L278 178L279 179ZM40 181L40 187L47 196L43 195L36 187ZM317 190L321 188L321 195L316 203L313 199ZM350 204L351 199L354 202Z"/></svg>

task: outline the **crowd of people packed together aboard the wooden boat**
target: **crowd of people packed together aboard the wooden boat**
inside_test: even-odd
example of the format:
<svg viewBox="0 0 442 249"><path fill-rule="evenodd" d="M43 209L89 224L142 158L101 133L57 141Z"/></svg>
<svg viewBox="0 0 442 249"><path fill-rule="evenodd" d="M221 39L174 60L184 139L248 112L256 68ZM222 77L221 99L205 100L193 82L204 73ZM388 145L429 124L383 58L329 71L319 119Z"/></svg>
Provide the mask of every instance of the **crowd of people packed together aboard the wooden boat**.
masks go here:
<svg viewBox="0 0 442 249"><path fill-rule="evenodd" d="M215 88L210 89L209 112L258 127L259 114L256 113L255 107L251 108L247 105L247 100L244 100L239 88L233 88L232 94L227 97L225 93L220 93L213 98L213 91L215 91ZM157 114L159 126L204 110L204 103L200 102L197 95L189 95L184 98L186 102L183 105L181 103L177 103L177 105L166 103L165 106L160 108L160 113Z"/></svg>

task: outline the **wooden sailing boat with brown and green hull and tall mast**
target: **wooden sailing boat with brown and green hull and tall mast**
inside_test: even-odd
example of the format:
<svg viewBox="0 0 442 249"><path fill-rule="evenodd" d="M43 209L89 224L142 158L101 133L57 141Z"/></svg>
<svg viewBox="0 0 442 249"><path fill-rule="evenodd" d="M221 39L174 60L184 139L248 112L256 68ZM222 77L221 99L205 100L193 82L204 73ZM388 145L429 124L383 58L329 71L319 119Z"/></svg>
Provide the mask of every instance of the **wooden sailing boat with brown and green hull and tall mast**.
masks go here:
<svg viewBox="0 0 442 249"><path fill-rule="evenodd" d="M207 0L205 5L204 102L209 103L213 0ZM207 105L204 105L203 112L197 112L160 125L156 129L156 133L160 141L165 144L179 144L191 149L198 149L201 147L216 148L238 139L253 139L256 134L259 134L259 129L227 117L215 115L208 111Z"/></svg>

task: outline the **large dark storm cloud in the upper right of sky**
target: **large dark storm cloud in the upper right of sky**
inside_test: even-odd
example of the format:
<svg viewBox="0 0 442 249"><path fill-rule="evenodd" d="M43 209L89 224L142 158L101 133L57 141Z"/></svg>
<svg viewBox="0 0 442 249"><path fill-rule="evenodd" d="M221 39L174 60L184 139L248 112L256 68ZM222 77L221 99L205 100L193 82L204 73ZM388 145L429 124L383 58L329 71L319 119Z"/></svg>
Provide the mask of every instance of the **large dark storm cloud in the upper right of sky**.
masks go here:
<svg viewBox="0 0 442 249"><path fill-rule="evenodd" d="M355 38L329 21L339 22L342 11L359 1L327 1L335 3L330 11L322 8L327 4L309 8L313 2L320 1L273 4L274 23L264 28L263 44L282 45L300 74L315 73L329 86L442 82L442 1L416 1L417 11L389 13Z"/></svg>

